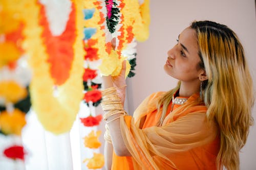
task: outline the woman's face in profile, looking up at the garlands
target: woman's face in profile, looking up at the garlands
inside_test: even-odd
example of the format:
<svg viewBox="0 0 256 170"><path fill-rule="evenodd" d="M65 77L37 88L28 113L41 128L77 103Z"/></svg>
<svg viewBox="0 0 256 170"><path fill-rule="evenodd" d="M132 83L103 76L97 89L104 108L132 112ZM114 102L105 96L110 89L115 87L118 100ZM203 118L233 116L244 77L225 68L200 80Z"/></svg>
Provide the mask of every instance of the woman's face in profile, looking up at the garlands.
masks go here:
<svg viewBox="0 0 256 170"><path fill-rule="evenodd" d="M199 67L200 57L196 31L186 28L177 40L177 44L167 52L165 72L183 82L199 80L202 69Z"/></svg>

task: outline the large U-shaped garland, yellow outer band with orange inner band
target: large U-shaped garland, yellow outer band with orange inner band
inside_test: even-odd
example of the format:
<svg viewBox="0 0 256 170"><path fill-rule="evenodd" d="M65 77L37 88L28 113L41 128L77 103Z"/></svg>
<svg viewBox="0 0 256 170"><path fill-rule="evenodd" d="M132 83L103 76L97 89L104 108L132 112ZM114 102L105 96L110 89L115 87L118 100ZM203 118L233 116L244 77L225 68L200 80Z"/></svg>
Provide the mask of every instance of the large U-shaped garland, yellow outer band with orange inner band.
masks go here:
<svg viewBox="0 0 256 170"><path fill-rule="evenodd" d="M68 35L65 36L66 38L63 39L63 42L59 42L62 41L61 38L51 37L52 35L50 35L49 32L47 33L47 27L50 25L50 18L46 21L45 17L47 15L44 9L47 4L43 5L35 0L30 1L27 2L26 10L23 12L24 18L26 19L26 40L24 46L30 56L28 61L33 69L33 79L30 84L33 109L42 126L55 134L67 132L71 129L79 110L79 103L82 99L82 13L79 13L79 11L82 11L81 2L80 0L68 1L71 11L67 17L69 21L71 20L71 23L75 23L75 31L73 31L72 34L76 35L76 37L75 40L72 40L72 44L65 43L67 42L66 39ZM50 1L48 3L50 3ZM59 5L61 6L61 4ZM54 6L52 7L54 8ZM57 8L59 8L59 6ZM65 10L63 11L65 12ZM49 25L47 25L47 23L49 23ZM62 33L66 33L66 31L69 31L67 27ZM71 33L69 33L69 35L71 35ZM58 40L58 43L62 46L53 45L53 47L56 47L56 51L72 48L73 55L66 51L70 54L69 57L71 58L68 60L65 59L64 63L66 64L63 65L63 67L67 66L68 70L64 72L69 72L68 77L59 78L57 72L58 69L62 70L62 68L57 67L56 62L58 58L51 58L54 57L53 54L55 54L52 53L54 52L54 48L50 50L51 52L47 50L49 44L45 43L45 37L42 36L52 38L52 43ZM55 73L57 75L53 76Z"/></svg>

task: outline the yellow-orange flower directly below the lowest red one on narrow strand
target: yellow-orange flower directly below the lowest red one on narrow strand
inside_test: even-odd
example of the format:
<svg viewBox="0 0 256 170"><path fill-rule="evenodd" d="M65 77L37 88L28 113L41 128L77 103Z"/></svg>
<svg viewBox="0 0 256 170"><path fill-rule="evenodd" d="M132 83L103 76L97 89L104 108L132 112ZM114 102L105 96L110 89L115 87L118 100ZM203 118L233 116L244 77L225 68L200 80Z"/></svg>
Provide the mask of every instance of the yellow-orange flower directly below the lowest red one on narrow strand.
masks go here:
<svg viewBox="0 0 256 170"><path fill-rule="evenodd" d="M97 131L96 135L92 131L88 136L84 137L84 146L91 149L97 149L100 147L101 143L99 142L99 136L101 131Z"/></svg>

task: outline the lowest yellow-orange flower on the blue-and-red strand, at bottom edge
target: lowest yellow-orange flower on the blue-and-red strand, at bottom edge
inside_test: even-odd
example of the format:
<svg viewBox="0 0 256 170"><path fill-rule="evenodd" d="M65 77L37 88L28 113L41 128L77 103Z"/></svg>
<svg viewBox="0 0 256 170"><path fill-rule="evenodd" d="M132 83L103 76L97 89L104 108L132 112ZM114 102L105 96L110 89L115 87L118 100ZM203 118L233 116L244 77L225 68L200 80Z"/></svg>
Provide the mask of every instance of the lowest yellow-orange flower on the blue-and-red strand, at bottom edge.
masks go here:
<svg viewBox="0 0 256 170"><path fill-rule="evenodd" d="M93 153L93 158L83 160L83 162L86 161L88 161L87 167L89 169L98 169L104 166L104 156L100 153Z"/></svg>

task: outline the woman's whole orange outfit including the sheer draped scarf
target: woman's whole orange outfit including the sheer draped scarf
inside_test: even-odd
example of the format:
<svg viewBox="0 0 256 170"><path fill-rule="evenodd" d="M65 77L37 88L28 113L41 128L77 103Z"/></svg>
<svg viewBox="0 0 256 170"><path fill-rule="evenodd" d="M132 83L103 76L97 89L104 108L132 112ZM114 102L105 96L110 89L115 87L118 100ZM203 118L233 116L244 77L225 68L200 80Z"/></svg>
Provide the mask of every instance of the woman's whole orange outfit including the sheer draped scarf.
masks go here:
<svg viewBox="0 0 256 170"><path fill-rule="evenodd" d="M170 102L162 126L157 127L156 108L162 94L148 96L133 117L120 118L122 137L132 156L113 152L112 169L217 169L219 132L215 122L207 121L199 94L182 106L172 108Z"/></svg>

